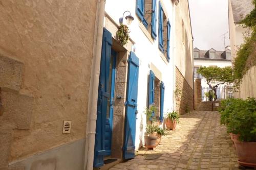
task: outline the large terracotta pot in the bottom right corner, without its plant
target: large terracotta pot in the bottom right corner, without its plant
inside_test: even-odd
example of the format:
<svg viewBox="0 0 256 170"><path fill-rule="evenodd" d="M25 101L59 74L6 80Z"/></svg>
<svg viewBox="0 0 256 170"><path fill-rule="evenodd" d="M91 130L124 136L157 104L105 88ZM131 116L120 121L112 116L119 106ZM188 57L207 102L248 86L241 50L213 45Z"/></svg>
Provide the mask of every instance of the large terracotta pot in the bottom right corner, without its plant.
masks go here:
<svg viewBox="0 0 256 170"><path fill-rule="evenodd" d="M256 167L256 142L239 141L239 135L233 136L234 145L238 153L238 162L240 165Z"/></svg>

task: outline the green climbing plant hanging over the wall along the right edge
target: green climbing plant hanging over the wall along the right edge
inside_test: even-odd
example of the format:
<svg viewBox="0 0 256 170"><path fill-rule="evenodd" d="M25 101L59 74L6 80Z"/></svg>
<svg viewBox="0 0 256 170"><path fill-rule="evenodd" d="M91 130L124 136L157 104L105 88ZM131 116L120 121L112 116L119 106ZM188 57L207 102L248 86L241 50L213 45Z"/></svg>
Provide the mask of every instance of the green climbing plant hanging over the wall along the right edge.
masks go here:
<svg viewBox="0 0 256 170"><path fill-rule="evenodd" d="M254 9L239 22L244 27L249 28L251 34L244 37L245 41L240 45L233 62L234 79L236 79L235 87L237 89L246 71L256 65L256 1L253 0L252 3L254 4Z"/></svg>

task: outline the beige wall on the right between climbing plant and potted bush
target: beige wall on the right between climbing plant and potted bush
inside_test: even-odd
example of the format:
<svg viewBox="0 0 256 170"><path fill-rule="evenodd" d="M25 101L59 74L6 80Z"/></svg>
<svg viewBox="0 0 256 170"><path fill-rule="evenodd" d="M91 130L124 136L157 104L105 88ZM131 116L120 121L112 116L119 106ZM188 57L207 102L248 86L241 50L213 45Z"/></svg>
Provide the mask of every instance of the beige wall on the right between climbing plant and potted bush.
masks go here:
<svg viewBox="0 0 256 170"><path fill-rule="evenodd" d="M243 76L239 91L234 93L234 98L256 98L256 65L251 67Z"/></svg>

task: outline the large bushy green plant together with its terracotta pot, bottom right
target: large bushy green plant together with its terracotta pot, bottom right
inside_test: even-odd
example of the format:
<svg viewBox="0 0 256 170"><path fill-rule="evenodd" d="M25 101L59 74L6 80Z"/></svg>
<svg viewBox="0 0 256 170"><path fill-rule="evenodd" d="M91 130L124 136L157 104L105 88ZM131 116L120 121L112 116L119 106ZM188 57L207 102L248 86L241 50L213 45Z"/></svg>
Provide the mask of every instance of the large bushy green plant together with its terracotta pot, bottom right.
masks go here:
<svg viewBox="0 0 256 170"><path fill-rule="evenodd" d="M233 99L221 112L227 111L227 132L232 133L238 153L238 162L243 166L256 167L256 100Z"/></svg>

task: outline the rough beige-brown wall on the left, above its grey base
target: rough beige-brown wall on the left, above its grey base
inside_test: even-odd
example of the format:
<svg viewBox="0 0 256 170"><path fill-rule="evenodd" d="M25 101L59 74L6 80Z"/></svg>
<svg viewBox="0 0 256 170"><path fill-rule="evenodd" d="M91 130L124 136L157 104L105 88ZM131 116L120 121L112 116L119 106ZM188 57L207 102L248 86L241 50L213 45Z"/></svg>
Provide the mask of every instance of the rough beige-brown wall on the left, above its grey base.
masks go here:
<svg viewBox="0 0 256 170"><path fill-rule="evenodd" d="M96 6L0 1L0 169L85 137Z"/></svg>

